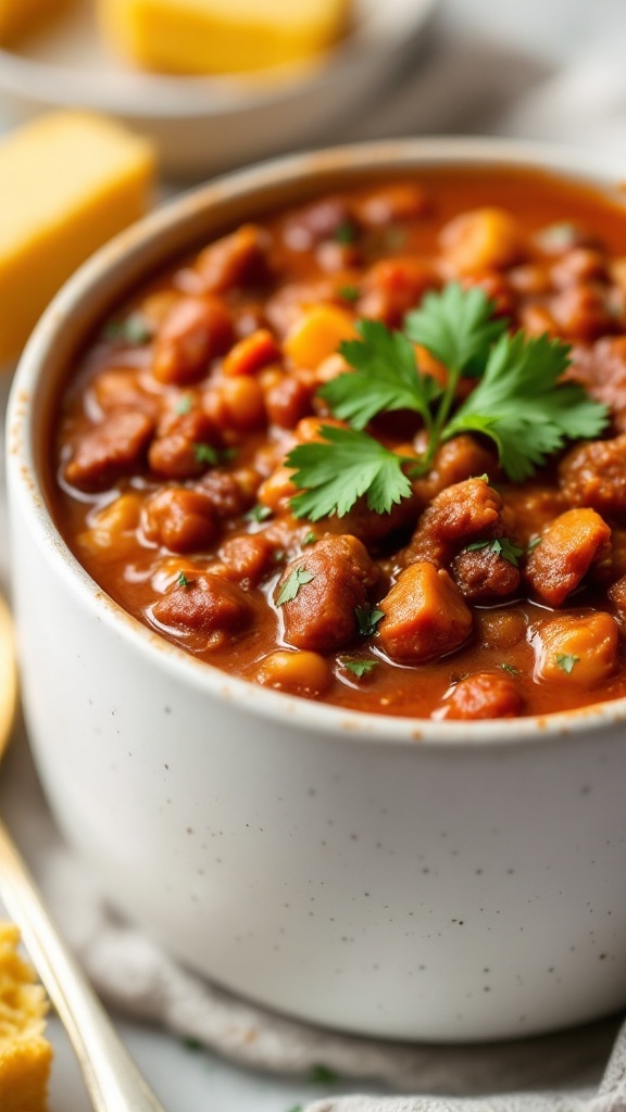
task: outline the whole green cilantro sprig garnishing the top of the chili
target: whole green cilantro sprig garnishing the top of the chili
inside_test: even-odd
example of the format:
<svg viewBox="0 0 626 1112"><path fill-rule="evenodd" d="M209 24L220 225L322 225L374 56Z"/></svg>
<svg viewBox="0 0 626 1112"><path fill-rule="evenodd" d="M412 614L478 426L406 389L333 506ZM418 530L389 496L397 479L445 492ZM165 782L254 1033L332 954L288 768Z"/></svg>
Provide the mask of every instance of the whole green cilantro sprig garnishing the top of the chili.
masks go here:
<svg viewBox="0 0 626 1112"><path fill-rule="evenodd" d="M299 445L286 458L299 488L291 500L297 517L343 517L363 496L374 513L389 513L411 495L411 479L430 469L441 444L462 433L489 437L502 470L521 481L567 440L595 437L608 423L605 405L561 381L569 346L548 336L509 335L479 287L450 284L427 294L404 331L374 320L355 329L359 338L340 347L352 370L319 391L349 427L323 425L317 441ZM415 345L443 364L444 386L420 369ZM459 405L462 378L477 385ZM375 417L400 409L422 420L421 457L391 451L365 431Z"/></svg>

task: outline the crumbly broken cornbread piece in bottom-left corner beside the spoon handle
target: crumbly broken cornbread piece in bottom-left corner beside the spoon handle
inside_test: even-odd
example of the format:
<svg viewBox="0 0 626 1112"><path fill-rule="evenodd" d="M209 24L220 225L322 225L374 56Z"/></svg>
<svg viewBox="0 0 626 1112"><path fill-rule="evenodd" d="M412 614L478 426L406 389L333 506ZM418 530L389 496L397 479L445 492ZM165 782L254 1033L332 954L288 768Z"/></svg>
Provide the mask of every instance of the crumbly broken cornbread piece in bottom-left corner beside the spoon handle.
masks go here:
<svg viewBox="0 0 626 1112"><path fill-rule="evenodd" d="M19 931L0 923L0 1109L46 1112L52 1048L43 1037L48 1003L17 953Z"/></svg>

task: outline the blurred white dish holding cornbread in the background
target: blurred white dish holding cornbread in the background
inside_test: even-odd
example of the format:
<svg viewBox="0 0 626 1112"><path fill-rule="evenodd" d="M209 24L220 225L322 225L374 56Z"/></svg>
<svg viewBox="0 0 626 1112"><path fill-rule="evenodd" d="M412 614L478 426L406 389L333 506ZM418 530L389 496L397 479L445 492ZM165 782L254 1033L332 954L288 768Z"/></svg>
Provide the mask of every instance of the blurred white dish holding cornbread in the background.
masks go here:
<svg viewBox="0 0 626 1112"><path fill-rule="evenodd" d="M81 106L156 140L163 168L198 178L301 149L366 111L384 80L414 57L437 0L354 0L354 30L317 62L246 77L133 71L107 53L90 4L12 50L0 50L0 115Z"/></svg>

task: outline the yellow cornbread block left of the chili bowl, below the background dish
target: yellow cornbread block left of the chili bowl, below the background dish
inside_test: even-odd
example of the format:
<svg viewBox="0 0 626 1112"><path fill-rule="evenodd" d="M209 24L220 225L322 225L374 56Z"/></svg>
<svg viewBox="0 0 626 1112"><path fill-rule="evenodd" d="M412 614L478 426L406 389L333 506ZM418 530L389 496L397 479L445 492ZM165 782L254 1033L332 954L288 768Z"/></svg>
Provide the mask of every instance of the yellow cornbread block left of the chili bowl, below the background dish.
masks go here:
<svg viewBox="0 0 626 1112"><path fill-rule="evenodd" d="M0 365L79 264L145 212L153 171L149 143L82 112L0 142Z"/></svg>

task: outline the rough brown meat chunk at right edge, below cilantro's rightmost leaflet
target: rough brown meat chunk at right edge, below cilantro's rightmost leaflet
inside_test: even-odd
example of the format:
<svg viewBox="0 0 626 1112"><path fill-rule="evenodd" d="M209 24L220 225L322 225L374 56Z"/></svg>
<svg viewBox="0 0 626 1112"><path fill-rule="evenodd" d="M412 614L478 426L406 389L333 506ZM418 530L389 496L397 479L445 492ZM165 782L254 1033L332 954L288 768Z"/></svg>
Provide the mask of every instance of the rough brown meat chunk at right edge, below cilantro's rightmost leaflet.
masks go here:
<svg viewBox="0 0 626 1112"><path fill-rule="evenodd" d="M626 434L571 448L559 465L559 483L571 506L590 506L626 519Z"/></svg>

